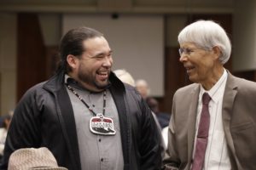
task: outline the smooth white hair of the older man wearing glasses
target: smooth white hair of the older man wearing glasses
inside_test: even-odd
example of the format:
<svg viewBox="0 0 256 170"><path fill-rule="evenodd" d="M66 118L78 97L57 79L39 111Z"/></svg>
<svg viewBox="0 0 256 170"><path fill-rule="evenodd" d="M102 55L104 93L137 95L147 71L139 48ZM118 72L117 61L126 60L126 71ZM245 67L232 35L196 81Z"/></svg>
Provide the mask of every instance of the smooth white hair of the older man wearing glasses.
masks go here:
<svg viewBox="0 0 256 170"><path fill-rule="evenodd" d="M197 46L205 49L218 46L221 51L219 61L224 65L230 59L230 38L224 29L212 20L198 20L186 26L180 31L177 41L179 44L194 42Z"/></svg>

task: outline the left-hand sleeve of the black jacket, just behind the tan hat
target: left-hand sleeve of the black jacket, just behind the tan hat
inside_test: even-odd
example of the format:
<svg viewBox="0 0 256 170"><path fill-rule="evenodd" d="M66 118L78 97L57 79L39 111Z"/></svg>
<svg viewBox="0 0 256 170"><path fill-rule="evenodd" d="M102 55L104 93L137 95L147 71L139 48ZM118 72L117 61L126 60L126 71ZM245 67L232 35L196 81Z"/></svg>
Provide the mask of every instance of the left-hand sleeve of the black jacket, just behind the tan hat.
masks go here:
<svg viewBox="0 0 256 170"><path fill-rule="evenodd" d="M7 169L9 156L20 148L39 147L40 133L38 120L39 110L37 100L32 90L20 99L15 108L14 116L9 126L9 132L4 146L3 161L0 169ZM42 108L41 108L42 109Z"/></svg>

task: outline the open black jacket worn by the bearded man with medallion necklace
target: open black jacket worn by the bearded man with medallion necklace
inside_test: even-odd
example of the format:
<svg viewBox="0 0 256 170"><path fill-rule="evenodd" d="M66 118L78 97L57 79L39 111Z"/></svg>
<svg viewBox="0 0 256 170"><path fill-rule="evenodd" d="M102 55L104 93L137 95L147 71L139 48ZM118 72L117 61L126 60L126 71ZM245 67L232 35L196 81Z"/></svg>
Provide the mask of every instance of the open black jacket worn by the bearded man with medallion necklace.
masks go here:
<svg viewBox="0 0 256 170"><path fill-rule="evenodd" d="M160 169L160 133L137 91L111 73L109 88L119 112L125 170ZM80 170L79 144L64 73L30 88L15 109L0 169L20 148L47 147L60 167Z"/></svg>

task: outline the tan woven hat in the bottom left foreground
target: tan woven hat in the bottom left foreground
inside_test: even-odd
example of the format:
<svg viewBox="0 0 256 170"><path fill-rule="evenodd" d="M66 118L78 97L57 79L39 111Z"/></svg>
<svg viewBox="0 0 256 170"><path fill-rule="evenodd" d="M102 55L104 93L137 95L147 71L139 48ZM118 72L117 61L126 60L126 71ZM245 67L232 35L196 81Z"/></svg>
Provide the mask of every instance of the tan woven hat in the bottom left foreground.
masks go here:
<svg viewBox="0 0 256 170"><path fill-rule="evenodd" d="M55 156L45 147L15 150L9 157L8 170L67 170L58 167Z"/></svg>

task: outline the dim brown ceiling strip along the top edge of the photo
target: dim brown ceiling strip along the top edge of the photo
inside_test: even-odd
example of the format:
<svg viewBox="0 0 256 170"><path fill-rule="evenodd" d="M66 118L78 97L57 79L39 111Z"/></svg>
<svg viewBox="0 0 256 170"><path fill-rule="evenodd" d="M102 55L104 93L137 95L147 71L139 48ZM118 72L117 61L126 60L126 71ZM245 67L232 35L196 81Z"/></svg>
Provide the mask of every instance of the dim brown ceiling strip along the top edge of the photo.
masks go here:
<svg viewBox="0 0 256 170"><path fill-rule="evenodd" d="M0 12L232 13L234 0L0 0Z"/></svg>

